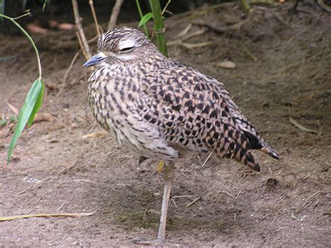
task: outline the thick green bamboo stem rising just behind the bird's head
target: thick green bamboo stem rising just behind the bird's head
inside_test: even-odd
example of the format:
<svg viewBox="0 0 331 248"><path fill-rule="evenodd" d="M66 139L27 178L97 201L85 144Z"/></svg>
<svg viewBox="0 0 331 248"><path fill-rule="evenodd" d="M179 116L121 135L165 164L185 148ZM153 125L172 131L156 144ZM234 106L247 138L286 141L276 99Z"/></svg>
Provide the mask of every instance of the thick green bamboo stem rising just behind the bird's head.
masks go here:
<svg viewBox="0 0 331 248"><path fill-rule="evenodd" d="M154 32L156 34L156 43L164 56L168 57L167 43L165 42L165 28L162 20L161 5L159 0L149 0L154 18Z"/></svg>

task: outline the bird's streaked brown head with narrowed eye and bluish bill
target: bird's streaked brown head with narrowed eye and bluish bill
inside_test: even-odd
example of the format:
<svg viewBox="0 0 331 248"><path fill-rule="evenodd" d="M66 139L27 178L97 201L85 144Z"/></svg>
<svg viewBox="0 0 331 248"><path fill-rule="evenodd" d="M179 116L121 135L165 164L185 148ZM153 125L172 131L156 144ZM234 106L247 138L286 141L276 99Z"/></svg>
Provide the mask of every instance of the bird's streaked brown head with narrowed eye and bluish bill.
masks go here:
<svg viewBox="0 0 331 248"><path fill-rule="evenodd" d="M120 27L105 32L98 39L98 54L85 62L84 66L107 66L130 63L158 52L155 45L137 29Z"/></svg>

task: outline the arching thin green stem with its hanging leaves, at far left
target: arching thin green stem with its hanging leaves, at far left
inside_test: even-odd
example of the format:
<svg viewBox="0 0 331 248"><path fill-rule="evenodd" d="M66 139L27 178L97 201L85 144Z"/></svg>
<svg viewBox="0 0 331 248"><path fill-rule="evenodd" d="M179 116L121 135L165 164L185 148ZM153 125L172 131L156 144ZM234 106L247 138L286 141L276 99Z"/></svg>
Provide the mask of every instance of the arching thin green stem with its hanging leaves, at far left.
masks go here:
<svg viewBox="0 0 331 248"><path fill-rule="evenodd" d="M24 15L21 15L20 17L23 17L25 15L29 15L29 13L25 13ZM3 17L5 19L10 20L15 24L15 26L22 31L22 33L27 36L28 40L30 41L31 45L34 47L34 52L36 53L37 61L38 61L38 73L39 77L34 81L34 84L29 89L29 92L27 94L27 97L24 101L24 104L22 106L22 109L20 110L20 115L17 120L17 124L15 126L15 131L13 134L13 138L10 142L9 148L8 148L8 156L7 156L7 164L10 161L10 157L13 154L13 149L15 147L15 144L17 143L18 138L20 137L24 126L28 124L28 126L31 126L32 122L34 122L34 116L38 112L38 110L41 108L41 105L43 103L43 96L45 92L45 85L43 83L42 75L41 75L41 59L39 57L38 49L36 48L36 44L34 43L34 40L29 36L27 31L25 31L20 24L18 24L15 20L17 20L20 17L8 17L7 15L0 14L0 17Z"/></svg>

